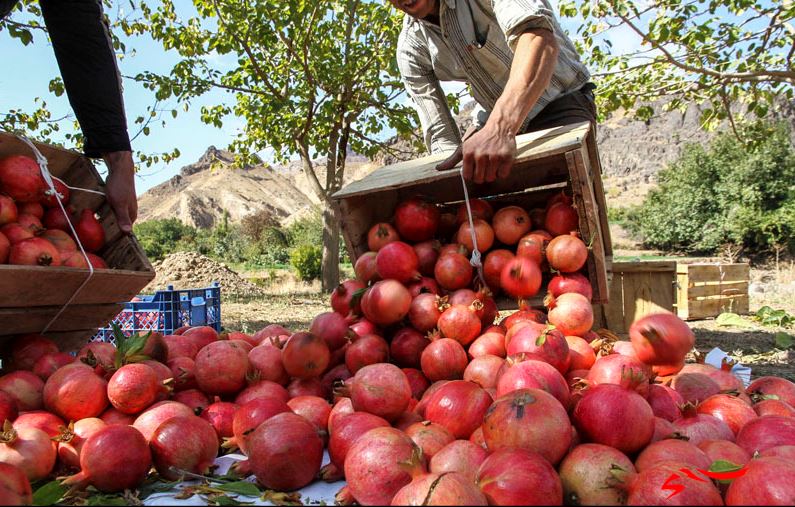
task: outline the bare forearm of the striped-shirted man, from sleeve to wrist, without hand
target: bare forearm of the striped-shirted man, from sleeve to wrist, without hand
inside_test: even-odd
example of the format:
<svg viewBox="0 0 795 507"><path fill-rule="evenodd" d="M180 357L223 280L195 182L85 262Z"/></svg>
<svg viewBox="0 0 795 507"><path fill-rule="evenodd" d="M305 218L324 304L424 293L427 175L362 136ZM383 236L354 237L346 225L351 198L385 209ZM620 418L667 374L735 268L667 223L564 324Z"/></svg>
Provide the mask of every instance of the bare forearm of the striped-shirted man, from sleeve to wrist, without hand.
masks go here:
<svg viewBox="0 0 795 507"><path fill-rule="evenodd" d="M549 86L558 58L555 34L543 28L523 34L516 45L511 75L494 110L489 127L515 136Z"/></svg>

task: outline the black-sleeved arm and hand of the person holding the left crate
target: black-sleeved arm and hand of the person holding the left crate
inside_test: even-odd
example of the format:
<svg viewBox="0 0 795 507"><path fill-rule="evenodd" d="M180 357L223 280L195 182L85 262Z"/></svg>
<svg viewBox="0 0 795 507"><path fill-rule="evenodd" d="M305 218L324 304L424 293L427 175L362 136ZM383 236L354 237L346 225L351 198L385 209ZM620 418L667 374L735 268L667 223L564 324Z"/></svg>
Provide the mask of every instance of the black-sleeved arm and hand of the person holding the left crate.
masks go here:
<svg viewBox="0 0 795 507"><path fill-rule="evenodd" d="M0 20L17 2L0 0ZM105 159L105 194L119 228L129 233L138 214L135 166L102 0L41 0L40 5L69 103L83 130L83 150L86 156Z"/></svg>

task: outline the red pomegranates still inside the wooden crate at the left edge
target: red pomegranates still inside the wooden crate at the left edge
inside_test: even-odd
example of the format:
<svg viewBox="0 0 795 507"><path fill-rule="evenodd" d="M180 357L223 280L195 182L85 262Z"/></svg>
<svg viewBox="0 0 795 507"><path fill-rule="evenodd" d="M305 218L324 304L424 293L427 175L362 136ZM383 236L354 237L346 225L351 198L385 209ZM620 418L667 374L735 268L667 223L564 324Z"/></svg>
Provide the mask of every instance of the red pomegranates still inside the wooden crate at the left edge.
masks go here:
<svg viewBox="0 0 795 507"><path fill-rule="evenodd" d="M49 193L30 157L0 159L0 264L88 269L90 261L94 268L106 269L97 254L105 245L105 231L96 215L90 209L78 212L70 204L69 188L58 178L53 183L56 194ZM86 256L79 252L70 222Z"/></svg>

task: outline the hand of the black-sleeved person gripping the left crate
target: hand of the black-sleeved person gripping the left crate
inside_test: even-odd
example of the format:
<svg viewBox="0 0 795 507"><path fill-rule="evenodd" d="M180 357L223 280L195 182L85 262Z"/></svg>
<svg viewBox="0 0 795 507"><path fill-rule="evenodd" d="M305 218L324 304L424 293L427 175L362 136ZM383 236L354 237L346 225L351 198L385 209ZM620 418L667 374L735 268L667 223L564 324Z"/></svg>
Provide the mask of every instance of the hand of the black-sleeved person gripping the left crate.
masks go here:
<svg viewBox="0 0 795 507"><path fill-rule="evenodd" d="M138 218L138 198L135 196L135 165L132 152L114 151L102 155L108 166L105 196L108 198L119 228L125 234L132 232Z"/></svg>

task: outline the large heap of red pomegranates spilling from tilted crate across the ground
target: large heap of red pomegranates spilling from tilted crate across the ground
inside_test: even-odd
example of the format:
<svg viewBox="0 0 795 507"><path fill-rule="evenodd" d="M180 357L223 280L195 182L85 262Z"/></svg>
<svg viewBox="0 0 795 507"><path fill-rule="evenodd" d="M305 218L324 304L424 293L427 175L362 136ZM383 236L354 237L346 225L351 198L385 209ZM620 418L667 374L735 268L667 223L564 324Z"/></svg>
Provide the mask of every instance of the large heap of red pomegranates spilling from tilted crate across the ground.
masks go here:
<svg viewBox="0 0 795 507"><path fill-rule="evenodd" d="M378 224L357 279L308 330L194 327L77 357L18 337L0 377L0 501L29 501L47 476L113 492L152 468L207 474L236 449L236 472L264 488L344 479L341 504L792 504L795 384L685 364L695 338L673 314L639 319L629 341L592 331L587 284L563 283L580 260L550 254L570 234L539 240L541 262L482 248L505 262L476 288L467 234L428 261L447 237L435 209L412 199ZM500 211L476 227L496 237ZM557 272L548 311L495 323L491 294L531 297L543 262Z"/></svg>

